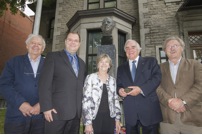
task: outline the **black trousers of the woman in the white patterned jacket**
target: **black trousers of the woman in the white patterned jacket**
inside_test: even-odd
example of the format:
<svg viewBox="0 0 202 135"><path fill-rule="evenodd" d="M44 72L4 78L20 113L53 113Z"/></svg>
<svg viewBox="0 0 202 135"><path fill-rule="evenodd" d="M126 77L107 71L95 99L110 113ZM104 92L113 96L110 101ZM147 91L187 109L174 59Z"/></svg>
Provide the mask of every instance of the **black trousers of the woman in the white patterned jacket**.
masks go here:
<svg viewBox="0 0 202 135"><path fill-rule="evenodd" d="M111 118L109 113L97 114L93 120L94 134L114 134L115 118Z"/></svg>

